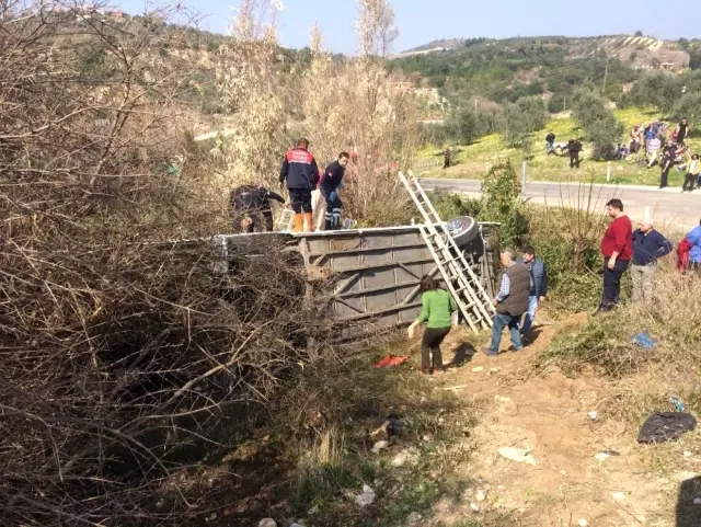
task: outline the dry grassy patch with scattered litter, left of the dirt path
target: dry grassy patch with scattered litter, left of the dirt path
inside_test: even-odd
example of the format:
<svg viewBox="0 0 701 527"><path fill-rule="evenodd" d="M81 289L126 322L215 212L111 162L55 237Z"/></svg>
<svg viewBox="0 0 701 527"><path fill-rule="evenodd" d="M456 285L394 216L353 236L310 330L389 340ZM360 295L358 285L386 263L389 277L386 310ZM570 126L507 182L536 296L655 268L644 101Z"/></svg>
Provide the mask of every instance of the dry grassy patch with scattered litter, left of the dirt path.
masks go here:
<svg viewBox="0 0 701 527"><path fill-rule="evenodd" d="M287 501L288 518L338 527L395 526L411 513L430 517L443 496L459 497L471 484L456 469L471 454L461 446L474 425L469 404L435 390L410 365L374 368L386 353L308 366L297 385L276 402L272 442L291 468L277 500ZM382 435L371 436L389 414L403 428L389 448L371 452ZM410 459L397 466L399 454ZM358 507L354 495L367 484L375 502ZM311 511L311 513L310 513ZM280 518L281 519L281 518Z"/></svg>

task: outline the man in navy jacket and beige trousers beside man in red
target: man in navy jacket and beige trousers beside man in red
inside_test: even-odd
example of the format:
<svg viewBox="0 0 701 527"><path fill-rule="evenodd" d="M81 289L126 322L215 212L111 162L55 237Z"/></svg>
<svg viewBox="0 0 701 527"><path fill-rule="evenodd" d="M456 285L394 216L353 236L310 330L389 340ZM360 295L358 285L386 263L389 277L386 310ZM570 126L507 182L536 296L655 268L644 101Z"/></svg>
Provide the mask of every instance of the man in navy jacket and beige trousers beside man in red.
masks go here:
<svg viewBox="0 0 701 527"><path fill-rule="evenodd" d="M633 232L633 259L631 277L633 278L634 302L653 298L653 279L657 271L657 260L666 256L674 249L674 243L653 228L648 215Z"/></svg>

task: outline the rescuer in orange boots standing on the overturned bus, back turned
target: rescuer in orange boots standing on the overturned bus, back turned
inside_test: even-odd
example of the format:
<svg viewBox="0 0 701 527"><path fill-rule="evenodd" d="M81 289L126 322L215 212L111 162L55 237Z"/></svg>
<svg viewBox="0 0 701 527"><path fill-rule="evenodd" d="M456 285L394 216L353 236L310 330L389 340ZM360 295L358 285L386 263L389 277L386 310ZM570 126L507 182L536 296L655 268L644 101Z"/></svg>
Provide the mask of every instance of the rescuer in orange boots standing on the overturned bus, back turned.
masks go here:
<svg viewBox="0 0 701 527"><path fill-rule="evenodd" d="M297 147L285 154L280 169L280 187L287 180L289 199L295 211L292 232L301 232L303 222L307 222L307 230L314 230L311 191L314 191L319 183L319 168L308 148L309 141L307 139L302 138L297 141ZM303 219L302 211L304 213Z"/></svg>

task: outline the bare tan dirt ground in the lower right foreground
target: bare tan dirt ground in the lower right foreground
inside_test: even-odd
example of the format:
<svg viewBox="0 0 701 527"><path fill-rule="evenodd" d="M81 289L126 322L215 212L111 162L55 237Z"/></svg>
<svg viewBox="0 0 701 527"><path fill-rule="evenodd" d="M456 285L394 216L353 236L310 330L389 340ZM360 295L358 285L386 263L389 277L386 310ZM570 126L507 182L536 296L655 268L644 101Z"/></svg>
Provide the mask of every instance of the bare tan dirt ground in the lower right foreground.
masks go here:
<svg viewBox="0 0 701 527"><path fill-rule="evenodd" d="M574 316L564 325L584 319ZM479 409L479 424L466 439L473 454L460 468L475 484L458 502L437 503L435 522L484 527L701 526L701 506L698 520L694 511L691 519L675 519L681 481L701 472L698 452L687 461L690 470L664 476L651 470L648 448L657 447L642 447L637 429L601 412L616 390L610 379L594 374L567 378L554 366L533 368L533 357L562 326L536 328L535 342L520 353L507 351L505 334L498 357L471 356L474 350L466 335L449 335L445 350L468 350L468 362L437 376L434 389L453 390ZM591 419L591 411L599 415ZM503 447L530 452L535 465L505 459L498 452ZM597 454L606 459L597 459ZM486 494L481 502L478 490Z"/></svg>

